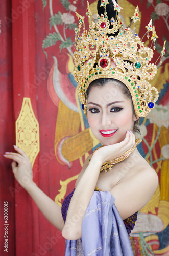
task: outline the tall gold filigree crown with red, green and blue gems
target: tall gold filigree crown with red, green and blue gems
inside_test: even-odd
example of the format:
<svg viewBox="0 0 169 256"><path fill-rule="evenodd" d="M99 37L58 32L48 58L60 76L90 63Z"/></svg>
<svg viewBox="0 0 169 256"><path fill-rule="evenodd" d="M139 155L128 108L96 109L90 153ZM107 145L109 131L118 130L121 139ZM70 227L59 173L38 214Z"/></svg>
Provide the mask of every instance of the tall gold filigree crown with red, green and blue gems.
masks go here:
<svg viewBox="0 0 169 256"><path fill-rule="evenodd" d="M136 115L145 117L154 108L159 97L158 90L149 83L149 80L157 74L157 66L150 63L154 54L153 49L144 46L139 36L132 32L130 28L132 24L123 28L119 16L121 8L115 5L115 0L113 4L118 14L115 20L111 18L110 22L106 12L108 2L102 0L101 3L105 7L105 12L104 15L98 15L98 22L95 24L87 2L86 15L90 24L88 31L85 29L84 17L77 14L79 26L75 29L74 77L78 82L82 109L87 115L85 94L93 80L114 78L123 82L129 89ZM139 10L136 7L131 23L135 24L139 20L138 15ZM111 29L109 29L110 23L113 26ZM147 33L152 32L151 40L155 42L157 35L151 22L147 30ZM118 34L114 35L117 31ZM163 53L165 53L164 47Z"/></svg>

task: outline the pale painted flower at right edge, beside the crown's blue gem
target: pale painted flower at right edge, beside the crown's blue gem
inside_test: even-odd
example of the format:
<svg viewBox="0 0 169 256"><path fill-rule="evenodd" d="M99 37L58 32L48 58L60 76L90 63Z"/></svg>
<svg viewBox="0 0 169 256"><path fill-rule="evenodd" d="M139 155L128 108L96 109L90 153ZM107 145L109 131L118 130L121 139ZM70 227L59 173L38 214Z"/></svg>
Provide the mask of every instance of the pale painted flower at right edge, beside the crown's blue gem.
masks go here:
<svg viewBox="0 0 169 256"><path fill-rule="evenodd" d="M162 125L166 128L169 127L169 105L155 105L155 108L151 110L147 118L150 123L156 123L158 127Z"/></svg>

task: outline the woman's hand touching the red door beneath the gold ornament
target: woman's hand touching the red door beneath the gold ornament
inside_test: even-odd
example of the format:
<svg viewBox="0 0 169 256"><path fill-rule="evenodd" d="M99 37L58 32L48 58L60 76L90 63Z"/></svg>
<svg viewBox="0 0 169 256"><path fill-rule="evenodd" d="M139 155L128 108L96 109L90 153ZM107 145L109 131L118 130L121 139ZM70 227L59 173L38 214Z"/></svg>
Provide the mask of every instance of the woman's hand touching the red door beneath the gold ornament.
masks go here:
<svg viewBox="0 0 169 256"><path fill-rule="evenodd" d="M33 182L32 178L32 166L29 160L29 157L17 146L14 146L17 153L14 152L6 152L4 157L12 159L12 171L15 176L15 179L19 182L19 184L26 188L31 182Z"/></svg>

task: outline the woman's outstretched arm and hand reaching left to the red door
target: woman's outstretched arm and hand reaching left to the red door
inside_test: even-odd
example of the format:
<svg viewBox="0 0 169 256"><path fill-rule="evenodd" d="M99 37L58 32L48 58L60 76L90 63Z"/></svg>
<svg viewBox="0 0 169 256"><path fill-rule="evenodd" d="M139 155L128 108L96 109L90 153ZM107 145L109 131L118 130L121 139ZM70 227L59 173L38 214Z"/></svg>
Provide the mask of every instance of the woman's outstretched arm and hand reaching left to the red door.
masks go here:
<svg viewBox="0 0 169 256"><path fill-rule="evenodd" d="M61 214L61 207L36 186L32 180L32 167L29 157L20 148L14 147L19 154L7 152L4 156L13 160L12 171L16 180L30 194L46 219L57 229L62 230L64 221Z"/></svg>

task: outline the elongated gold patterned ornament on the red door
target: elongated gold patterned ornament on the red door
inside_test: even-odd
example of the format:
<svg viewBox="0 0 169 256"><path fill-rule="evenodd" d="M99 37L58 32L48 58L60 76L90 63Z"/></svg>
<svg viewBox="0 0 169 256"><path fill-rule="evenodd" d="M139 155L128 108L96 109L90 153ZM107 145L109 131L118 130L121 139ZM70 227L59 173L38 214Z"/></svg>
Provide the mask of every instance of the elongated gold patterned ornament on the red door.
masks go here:
<svg viewBox="0 0 169 256"><path fill-rule="evenodd" d="M21 111L16 120L16 146L29 156L32 167L39 153L39 123L32 109L31 99L23 98Z"/></svg>

